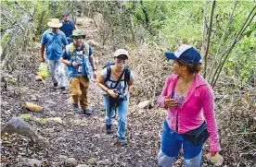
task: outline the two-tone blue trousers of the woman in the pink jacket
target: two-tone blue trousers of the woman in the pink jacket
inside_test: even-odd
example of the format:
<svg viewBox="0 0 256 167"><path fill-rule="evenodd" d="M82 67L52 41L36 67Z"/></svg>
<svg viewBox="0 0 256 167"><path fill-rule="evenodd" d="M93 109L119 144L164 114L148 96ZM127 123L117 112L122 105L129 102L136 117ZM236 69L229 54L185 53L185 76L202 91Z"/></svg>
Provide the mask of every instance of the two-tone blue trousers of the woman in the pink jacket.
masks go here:
<svg viewBox="0 0 256 167"><path fill-rule="evenodd" d="M180 149L184 149L185 167L200 167L202 161L202 145L194 146L182 135L175 133L164 121L160 153L158 156L161 167L172 167Z"/></svg>

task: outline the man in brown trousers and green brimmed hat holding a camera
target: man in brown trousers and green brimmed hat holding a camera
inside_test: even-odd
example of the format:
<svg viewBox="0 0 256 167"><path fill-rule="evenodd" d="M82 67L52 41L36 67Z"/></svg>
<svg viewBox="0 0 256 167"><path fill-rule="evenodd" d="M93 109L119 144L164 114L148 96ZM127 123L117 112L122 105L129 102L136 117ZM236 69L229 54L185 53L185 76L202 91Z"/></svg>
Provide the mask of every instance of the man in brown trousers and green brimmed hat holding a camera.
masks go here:
<svg viewBox="0 0 256 167"><path fill-rule="evenodd" d="M89 109L87 93L92 69L93 77L96 78L93 50L82 41L85 38L82 30L73 30L72 38L73 42L66 46L61 62L68 67L73 111L79 111L80 101L83 113L90 115L92 111Z"/></svg>

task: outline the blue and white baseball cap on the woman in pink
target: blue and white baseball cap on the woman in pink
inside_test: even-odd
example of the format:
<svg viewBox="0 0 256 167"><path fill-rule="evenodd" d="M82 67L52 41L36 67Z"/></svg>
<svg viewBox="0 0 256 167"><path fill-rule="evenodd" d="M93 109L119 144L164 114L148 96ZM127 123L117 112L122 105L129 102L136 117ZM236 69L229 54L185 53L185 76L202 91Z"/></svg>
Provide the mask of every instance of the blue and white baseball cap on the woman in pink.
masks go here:
<svg viewBox="0 0 256 167"><path fill-rule="evenodd" d="M174 53L166 52L165 56L168 59L182 60L187 64L202 64L201 55L195 48L187 44L182 44Z"/></svg>

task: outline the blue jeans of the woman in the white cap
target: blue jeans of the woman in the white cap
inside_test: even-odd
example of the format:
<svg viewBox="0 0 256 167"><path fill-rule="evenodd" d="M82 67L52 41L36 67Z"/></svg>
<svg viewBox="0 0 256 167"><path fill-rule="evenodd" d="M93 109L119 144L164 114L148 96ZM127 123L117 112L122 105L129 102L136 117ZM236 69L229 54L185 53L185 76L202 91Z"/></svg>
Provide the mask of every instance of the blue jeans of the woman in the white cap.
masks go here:
<svg viewBox="0 0 256 167"><path fill-rule="evenodd" d="M126 100L122 101L118 108L117 108L117 114L118 114L118 137L125 137L125 129L127 125L127 113L128 113L128 107L129 107L129 97L130 95L126 95ZM109 95L104 95L104 101L105 101L105 122L107 125L112 124L112 118L114 116L114 109L112 109L109 113ZM110 116L110 117L109 117Z"/></svg>

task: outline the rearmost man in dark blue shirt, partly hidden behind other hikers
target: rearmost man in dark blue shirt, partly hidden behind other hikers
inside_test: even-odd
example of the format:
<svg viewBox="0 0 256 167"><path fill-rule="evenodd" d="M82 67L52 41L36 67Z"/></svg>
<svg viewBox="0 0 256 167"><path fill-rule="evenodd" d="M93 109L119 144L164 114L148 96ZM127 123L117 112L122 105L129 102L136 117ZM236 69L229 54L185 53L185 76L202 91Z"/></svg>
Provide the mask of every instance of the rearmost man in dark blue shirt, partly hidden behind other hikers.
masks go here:
<svg viewBox="0 0 256 167"><path fill-rule="evenodd" d="M70 13L68 12L63 12L63 19L62 19L62 26L59 28L59 30L62 30L66 37L68 42L73 42L72 41L72 31L77 30L76 25L74 24L73 20L70 19Z"/></svg>

